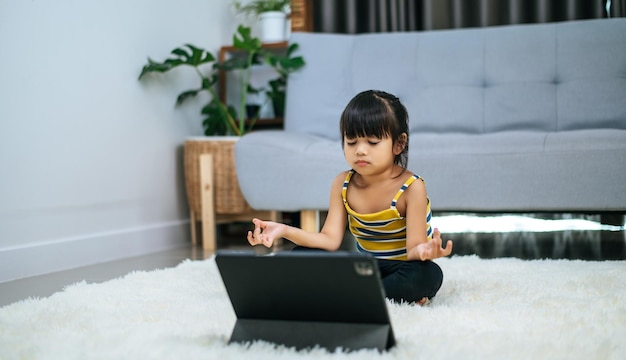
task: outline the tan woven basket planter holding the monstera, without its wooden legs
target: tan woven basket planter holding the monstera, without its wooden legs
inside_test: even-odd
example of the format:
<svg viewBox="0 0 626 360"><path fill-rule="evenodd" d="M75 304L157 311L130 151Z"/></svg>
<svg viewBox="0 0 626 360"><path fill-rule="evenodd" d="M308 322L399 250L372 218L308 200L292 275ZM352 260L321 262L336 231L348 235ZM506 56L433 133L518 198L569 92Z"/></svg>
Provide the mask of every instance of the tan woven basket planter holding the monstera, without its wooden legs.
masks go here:
<svg viewBox="0 0 626 360"><path fill-rule="evenodd" d="M185 141L185 188L189 209L196 219L202 217L200 206L200 154L213 155L215 212L241 214L253 211L243 197L237 181L234 146L238 137L207 137Z"/></svg>

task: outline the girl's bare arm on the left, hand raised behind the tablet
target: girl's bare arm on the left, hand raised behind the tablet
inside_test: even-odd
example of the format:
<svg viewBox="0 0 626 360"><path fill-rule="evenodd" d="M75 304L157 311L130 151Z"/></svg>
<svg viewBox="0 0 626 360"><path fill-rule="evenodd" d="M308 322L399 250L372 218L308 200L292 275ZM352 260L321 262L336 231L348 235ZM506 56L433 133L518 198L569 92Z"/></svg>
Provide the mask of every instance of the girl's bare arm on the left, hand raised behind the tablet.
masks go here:
<svg viewBox="0 0 626 360"><path fill-rule="evenodd" d="M308 232L286 224L253 219L254 231L248 231L250 245L271 247L277 239L285 238L304 247L329 251L339 249L347 223L346 210L341 198L345 176L345 172L341 173L333 181L328 216L320 232Z"/></svg>

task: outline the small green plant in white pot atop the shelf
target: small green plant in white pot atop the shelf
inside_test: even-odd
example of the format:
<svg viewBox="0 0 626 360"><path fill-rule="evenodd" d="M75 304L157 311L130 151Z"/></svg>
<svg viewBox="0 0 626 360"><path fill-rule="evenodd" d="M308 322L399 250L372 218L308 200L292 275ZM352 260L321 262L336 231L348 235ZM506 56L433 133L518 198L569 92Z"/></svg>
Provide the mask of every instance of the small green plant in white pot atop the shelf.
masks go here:
<svg viewBox="0 0 626 360"><path fill-rule="evenodd" d="M263 42L287 40L287 17L291 11L290 0L235 0L234 6L235 10L241 14L258 17Z"/></svg>

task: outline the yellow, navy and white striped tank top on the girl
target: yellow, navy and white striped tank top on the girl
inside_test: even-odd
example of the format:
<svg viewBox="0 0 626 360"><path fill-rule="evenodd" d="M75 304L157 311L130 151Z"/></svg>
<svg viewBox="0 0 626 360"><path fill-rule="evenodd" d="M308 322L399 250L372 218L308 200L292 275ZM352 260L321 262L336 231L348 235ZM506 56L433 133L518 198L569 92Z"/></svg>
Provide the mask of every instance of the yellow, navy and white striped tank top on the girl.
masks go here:
<svg viewBox="0 0 626 360"><path fill-rule="evenodd" d="M348 212L348 227L356 240L357 249L366 254L370 254L379 259L389 260L407 260L406 252L406 218L400 216L396 203L404 190L408 188L420 176L413 175L400 187L398 192L391 200L388 209L375 212L372 214L359 214L350 208L347 200L348 184L354 174L354 170L350 170L343 182L341 196L343 204ZM432 228L430 219L432 212L430 210L430 199L426 199L426 237L428 241L432 239Z"/></svg>

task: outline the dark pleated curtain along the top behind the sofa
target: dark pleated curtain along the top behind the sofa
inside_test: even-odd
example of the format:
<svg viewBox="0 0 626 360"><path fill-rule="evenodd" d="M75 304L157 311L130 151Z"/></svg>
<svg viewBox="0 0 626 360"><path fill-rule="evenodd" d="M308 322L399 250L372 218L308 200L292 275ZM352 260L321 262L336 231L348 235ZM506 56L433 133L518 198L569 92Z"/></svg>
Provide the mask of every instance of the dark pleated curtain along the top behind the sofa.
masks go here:
<svg viewBox="0 0 626 360"><path fill-rule="evenodd" d="M626 0L312 0L312 3L314 32L348 34L626 16Z"/></svg>

